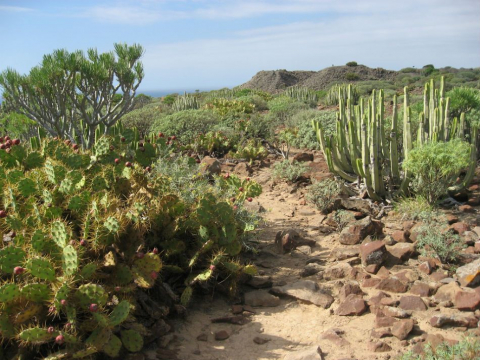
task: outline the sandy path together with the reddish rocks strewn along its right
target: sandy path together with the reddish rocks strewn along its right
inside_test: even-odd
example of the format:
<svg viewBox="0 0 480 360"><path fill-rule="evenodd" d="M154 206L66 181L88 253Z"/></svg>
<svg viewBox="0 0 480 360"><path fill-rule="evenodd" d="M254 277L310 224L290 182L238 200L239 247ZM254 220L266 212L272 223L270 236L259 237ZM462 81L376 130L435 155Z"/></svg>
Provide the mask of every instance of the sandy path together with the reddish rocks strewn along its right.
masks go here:
<svg viewBox="0 0 480 360"><path fill-rule="evenodd" d="M376 219L371 203L345 198L350 222L340 230L334 214L305 201L303 186L274 182L265 165L253 173L245 164L223 165L264 187L250 206L266 224L258 252L245 259L259 274L239 298L196 298L157 358L394 359L427 343L480 336L478 175L470 205L445 211L445 228L467 246L463 264L448 272L418 254L419 223L394 212ZM319 152L309 166L311 176L327 175Z"/></svg>

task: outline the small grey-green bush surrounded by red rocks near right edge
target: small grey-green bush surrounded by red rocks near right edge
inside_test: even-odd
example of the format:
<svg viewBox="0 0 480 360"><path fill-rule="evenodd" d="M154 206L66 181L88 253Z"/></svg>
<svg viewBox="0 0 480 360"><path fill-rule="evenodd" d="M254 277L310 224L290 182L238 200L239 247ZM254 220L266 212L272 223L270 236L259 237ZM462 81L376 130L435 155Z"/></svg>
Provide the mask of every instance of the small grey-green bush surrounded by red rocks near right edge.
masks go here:
<svg viewBox="0 0 480 360"><path fill-rule="evenodd" d="M417 248L424 256L436 257L444 264L454 263L464 244L460 237L450 231L442 231L436 221L428 222L418 229Z"/></svg>

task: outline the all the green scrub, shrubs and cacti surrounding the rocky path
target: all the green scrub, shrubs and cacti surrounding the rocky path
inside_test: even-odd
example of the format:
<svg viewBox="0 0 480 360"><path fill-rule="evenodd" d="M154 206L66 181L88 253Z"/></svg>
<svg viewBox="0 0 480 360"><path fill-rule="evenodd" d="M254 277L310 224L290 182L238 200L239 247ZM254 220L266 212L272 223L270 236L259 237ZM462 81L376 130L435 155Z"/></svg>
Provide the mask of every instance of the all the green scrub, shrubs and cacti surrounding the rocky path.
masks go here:
<svg viewBox="0 0 480 360"><path fill-rule="evenodd" d="M406 216L431 217L473 176L480 69L428 65L402 69L394 81L322 91L234 88L154 99L136 94L141 53L60 51L29 75L0 76L5 356L21 358L26 348L49 359L139 351L136 292L169 284L185 306L200 287L223 283L234 294L239 277L255 273L239 255L252 248L260 219L243 205L262 189L205 172L205 156L252 164L278 154L275 177L295 182L306 169L289 161L289 150L321 149L337 179L312 184L309 199L325 212L341 181ZM59 81L76 90L61 93ZM427 232L420 246L453 262L458 244L441 236Z"/></svg>

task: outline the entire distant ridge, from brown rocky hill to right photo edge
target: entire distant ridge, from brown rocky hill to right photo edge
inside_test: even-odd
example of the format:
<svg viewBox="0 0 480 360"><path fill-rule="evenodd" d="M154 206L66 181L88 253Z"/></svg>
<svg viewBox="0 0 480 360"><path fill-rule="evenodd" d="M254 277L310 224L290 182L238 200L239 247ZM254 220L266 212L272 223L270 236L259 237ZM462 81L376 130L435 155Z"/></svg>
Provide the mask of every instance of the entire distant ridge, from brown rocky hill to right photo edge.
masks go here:
<svg viewBox="0 0 480 360"><path fill-rule="evenodd" d="M290 86L305 86L313 90L326 90L335 83L388 81L395 85L409 85L416 81L424 81L429 75L451 74L450 78L463 76L468 86L477 87L474 83L480 79L480 68L455 69L446 67L435 69L433 73L426 73L424 69L405 68L400 71L385 70L382 68L369 68L365 65L357 66L331 66L320 71L287 71L269 70L260 71L252 79L239 88L257 89L278 93ZM449 78L447 77L447 80ZM460 79L461 80L461 79ZM456 83L457 81L455 81ZM455 84L457 85L457 84Z"/></svg>

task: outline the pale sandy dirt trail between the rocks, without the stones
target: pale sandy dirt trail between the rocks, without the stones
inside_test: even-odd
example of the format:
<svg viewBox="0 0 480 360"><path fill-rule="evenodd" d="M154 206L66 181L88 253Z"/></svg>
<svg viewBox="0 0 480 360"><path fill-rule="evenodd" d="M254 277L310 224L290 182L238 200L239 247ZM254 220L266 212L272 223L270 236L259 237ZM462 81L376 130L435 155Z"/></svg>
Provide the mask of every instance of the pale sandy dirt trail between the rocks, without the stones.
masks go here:
<svg viewBox="0 0 480 360"><path fill-rule="evenodd" d="M324 175L325 166L322 161L316 156L314 164L318 165L315 170L318 173L314 175ZM335 311L340 303L339 291L351 279L326 281L322 275L323 271L308 277L302 277L301 274L307 263L316 263L323 268L345 263L332 261L330 253L334 248L348 246L338 243L338 232L325 235L319 231L325 216L311 205L305 204L303 187L295 188L284 183L275 185L270 179L268 168L256 171L253 178L263 186L263 193L254 200L254 207L261 206L266 210L262 214L266 224L259 235L259 252L257 255L250 255L250 260L259 270L259 277L271 280L270 286L273 287L310 280L317 283L323 292L332 295L335 301L324 309L321 306L281 296L277 306L247 307L246 310L254 311L243 312L248 323L234 325L212 323L212 319L232 316L232 305L238 302L222 296L196 299L190 304L185 319L177 319L173 324L175 333L170 337L168 348L177 353L178 359L394 359L398 354L412 349L420 341L418 339L422 334L424 336L427 333L440 334L445 339L455 340L465 333L465 328L438 329L430 325L429 320L433 315L458 312L446 307L429 307L426 311L415 311L413 317L415 327L407 340L403 341L391 334L381 339L372 338L376 315L371 311L367 310L361 316L336 315ZM399 220L385 221L388 222L388 227L384 232L392 232L396 227L401 228ZM311 248L300 247L287 254L279 253L275 245L275 235L278 231L287 229L296 230L302 238L314 240L316 245ZM355 260L351 263L361 268ZM396 273L406 269L411 272L408 276L422 280L425 276L416 270L418 264L416 259L410 259L403 265L396 265L389 270ZM431 283L429 279L423 280ZM358 283L361 284L361 281ZM245 291L259 290L245 286ZM379 293L374 287L363 285L362 291L366 301ZM401 296L411 294L390 295L392 302L396 301L398 304L397 300ZM428 299L425 298L424 301L428 304ZM226 331L229 337L226 340L216 340L215 333L222 330ZM391 350L374 352L373 344L378 341L386 344ZM318 347L322 355L318 354Z"/></svg>

